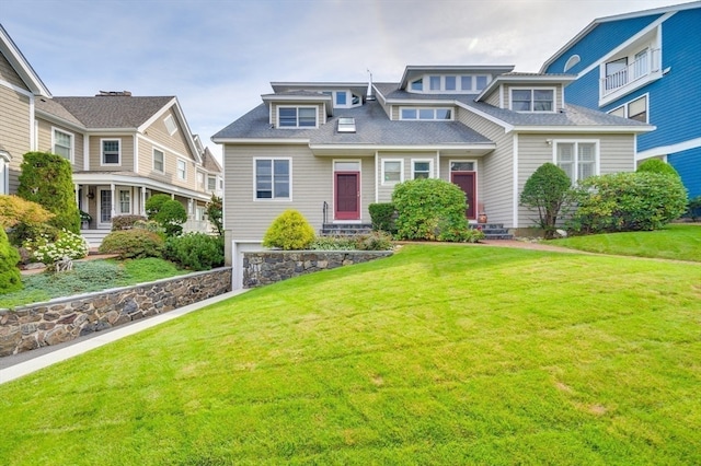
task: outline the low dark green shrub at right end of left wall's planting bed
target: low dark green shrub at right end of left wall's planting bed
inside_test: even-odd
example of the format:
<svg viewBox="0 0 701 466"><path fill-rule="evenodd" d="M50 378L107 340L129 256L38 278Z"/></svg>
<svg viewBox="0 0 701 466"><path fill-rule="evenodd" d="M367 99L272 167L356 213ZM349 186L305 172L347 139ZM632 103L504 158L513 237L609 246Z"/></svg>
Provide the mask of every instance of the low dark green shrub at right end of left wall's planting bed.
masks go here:
<svg viewBox="0 0 701 466"><path fill-rule="evenodd" d="M165 240L164 257L189 270L223 266L223 238L206 233L186 233Z"/></svg>

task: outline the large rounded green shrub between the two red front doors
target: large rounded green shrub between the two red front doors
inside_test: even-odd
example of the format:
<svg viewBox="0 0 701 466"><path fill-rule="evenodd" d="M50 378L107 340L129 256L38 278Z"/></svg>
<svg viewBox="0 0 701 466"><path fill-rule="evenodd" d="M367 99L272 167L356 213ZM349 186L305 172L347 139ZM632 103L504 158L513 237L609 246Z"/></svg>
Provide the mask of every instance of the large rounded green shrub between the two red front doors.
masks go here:
<svg viewBox="0 0 701 466"><path fill-rule="evenodd" d="M392 193L399 240L445 241L446 234L467 231L467 201L462 189L438 178L400 183Z"/></svg>

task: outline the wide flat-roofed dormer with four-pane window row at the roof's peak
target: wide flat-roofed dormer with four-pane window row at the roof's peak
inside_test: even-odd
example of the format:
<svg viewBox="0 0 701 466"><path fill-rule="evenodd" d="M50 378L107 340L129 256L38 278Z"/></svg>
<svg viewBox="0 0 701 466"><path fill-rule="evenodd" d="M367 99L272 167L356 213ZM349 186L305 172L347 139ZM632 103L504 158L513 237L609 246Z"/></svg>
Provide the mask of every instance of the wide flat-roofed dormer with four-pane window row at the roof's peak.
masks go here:
<svg viewBox="0 0 701 466"><path fill-rule="evenodd" d="M409 66L400 89L415 94L479 94L513 66Z"/></svg>

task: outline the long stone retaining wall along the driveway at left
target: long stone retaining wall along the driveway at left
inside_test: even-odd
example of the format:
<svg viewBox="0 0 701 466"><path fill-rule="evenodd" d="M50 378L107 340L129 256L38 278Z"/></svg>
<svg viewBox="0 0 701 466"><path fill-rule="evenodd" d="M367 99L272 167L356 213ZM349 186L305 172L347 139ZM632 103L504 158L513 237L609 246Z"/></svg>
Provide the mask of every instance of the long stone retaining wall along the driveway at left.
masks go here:
<svg viewBox="0 0 701 466"><path fill-rule="evenodd" d="M231 291L231 268L0 310L0 357L162 314Z"/></svg>

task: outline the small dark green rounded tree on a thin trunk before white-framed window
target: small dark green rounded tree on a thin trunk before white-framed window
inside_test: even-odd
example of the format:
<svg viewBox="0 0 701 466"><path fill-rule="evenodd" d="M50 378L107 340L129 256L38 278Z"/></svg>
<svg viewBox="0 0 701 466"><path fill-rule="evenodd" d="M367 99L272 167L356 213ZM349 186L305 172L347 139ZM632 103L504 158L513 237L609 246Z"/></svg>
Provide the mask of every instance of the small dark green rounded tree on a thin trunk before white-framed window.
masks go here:
<svg viewBox="0 0 701 466"><path fill-rule="evenodd" d="M547 240L554 237L560 211L572 200L567 174L553 163L544 163L526 180L520 205L538 211L536 223Z"/></svg>

